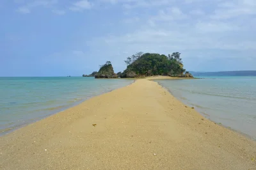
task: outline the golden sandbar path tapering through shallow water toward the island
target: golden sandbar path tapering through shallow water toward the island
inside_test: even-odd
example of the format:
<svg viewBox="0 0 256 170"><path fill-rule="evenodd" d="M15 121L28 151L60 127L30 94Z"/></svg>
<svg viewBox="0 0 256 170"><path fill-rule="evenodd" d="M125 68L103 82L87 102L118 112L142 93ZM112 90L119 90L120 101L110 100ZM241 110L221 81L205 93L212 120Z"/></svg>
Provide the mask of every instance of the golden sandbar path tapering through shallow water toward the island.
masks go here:
<svg viewBox="0 0 256 170"><path fill-rule="evenodd" d="M256 169L255 141L151 79L1 136L0 169Z"/></svg>

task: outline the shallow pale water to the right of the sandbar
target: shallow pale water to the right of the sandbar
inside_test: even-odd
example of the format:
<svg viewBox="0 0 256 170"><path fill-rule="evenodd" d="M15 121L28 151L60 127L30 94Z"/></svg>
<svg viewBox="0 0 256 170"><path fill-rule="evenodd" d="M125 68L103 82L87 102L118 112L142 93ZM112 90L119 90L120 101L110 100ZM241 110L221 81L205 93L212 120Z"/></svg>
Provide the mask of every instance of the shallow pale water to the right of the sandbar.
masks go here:
<svg viewBox="0 0 256 170"><path fill-rule="evenodd" d="M157 80L210 120L256 139L256 77Z"/></svg>

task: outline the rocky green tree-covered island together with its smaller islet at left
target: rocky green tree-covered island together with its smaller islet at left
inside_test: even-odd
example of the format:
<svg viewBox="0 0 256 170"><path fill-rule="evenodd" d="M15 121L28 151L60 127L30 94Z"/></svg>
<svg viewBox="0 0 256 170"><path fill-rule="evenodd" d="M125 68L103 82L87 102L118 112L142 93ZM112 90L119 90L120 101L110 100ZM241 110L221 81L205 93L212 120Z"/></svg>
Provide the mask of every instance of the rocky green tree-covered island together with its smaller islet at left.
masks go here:
<svg viewBox="0 0 256 170"><path fill-rule="evenodd" d="M180 52L173 52L168 56L157 53L137 52L124 62L127 65L124 72L115 73L111 62L106 61L104 65L100 65L99 72L94 74L95 78L134 78L153 75L193 77L191 73L186 72L186 69L183 68Z"/></svg>

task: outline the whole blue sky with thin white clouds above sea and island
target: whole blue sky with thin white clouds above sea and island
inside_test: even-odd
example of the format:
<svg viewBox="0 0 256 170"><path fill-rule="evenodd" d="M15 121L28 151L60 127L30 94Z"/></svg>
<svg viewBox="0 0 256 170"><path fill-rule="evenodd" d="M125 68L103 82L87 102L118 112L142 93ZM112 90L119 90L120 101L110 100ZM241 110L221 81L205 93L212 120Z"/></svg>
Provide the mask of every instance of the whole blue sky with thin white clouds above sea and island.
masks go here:
<svg viewBox="0 0 256 170"><path fill-rule="evenodd" d="M81 76L136 52L256 70L255 0L1 0L0 76Z"/></svg>

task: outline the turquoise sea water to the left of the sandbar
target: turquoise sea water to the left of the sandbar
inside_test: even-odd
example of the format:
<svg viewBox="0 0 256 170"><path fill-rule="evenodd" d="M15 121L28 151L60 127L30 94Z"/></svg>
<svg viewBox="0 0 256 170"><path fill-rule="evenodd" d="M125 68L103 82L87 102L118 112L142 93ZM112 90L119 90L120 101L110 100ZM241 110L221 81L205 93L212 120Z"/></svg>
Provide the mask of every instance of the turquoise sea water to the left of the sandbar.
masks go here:
<svg viewBox="0 0 256 170"><path fill-rule="evenodd" d="M131 83L93 77L0 77L0 134Z"/></svg>

